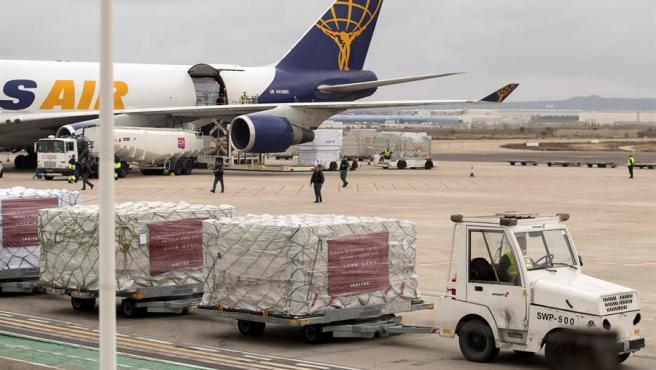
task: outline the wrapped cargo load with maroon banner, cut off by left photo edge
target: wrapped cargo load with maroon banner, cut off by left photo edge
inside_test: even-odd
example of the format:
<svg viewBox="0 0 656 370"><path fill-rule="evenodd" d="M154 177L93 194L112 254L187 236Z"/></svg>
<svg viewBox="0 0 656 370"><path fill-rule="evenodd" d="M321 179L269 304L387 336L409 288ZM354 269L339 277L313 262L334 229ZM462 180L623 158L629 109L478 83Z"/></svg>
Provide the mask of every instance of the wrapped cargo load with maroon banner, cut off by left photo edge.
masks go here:
<svg viewBox="0 0 656 370"><path fill-rule="evenodd" d="M0 271L38 269L39 209L73 206L79 200L77 191L0 189Z"/></svg>

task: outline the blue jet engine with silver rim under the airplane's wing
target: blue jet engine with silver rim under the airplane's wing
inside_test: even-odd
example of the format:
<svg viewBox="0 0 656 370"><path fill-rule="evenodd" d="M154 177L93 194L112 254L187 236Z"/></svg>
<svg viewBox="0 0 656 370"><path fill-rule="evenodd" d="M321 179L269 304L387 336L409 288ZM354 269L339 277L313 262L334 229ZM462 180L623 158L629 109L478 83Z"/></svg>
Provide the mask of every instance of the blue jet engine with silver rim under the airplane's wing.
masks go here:
<svg viewBox="0 0 656 370"><path fill-rule="evenodd" d="M311 142L314 132L294 126L284 117L246 115L232 120L230 138L240 152L280 153L292 145Z"/></svg>

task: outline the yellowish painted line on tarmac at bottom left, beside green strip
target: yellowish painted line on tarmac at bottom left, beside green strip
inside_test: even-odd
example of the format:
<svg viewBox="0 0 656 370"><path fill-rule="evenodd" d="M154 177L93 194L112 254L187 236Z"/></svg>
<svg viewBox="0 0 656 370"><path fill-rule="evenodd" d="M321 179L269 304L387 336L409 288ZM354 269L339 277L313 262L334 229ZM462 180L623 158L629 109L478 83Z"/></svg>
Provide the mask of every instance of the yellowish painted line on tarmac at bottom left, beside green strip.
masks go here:
<svg viewBox="0 0 656 370"><path fill-rule="evenodd" d="M14 325L21 328L32 329L32 330L35 329L35 327L39 327L43 331L47 331L49 333L54 333L58 335L61 335L62 332L64 332L66 333L66 335L70 335L76 338L82 338L85 340L96 341L98 337L96 330L93 331L74 330L74 329L69 329L52 324L41 324L34 321L20 320L16 318L0 318L0 323L2 322L5 322L6 324L9 325ZM159 344L156 343L155 341L149 340L148 338L140 338L140 339L141 340L122 336L117 338L117 342L119 345L127 348L141 348L149 351L155 350L158 353L165 354L165 355L171 355L175 353L185 354L188 356L187 358L191 358L194 360L202 359L202 360L207 360L210 363L214 363L215 361L222 361L225 364L229 364L235 367L241 367L244 369L251 369L255 367L265 370L279 370L279 369L313 370L308 367L299 367L299 366L291 366L286 364L271 363L269 362L270 360L260 360L260 359L255 360L255 359L249 359L244 357L223 355L219 353L206 353L206 352L201 352L199 349L193 349L193 348L186 349L182 347L177 347L173 344ZM244 366L248 366L248 367L244 367Z"/></svg>

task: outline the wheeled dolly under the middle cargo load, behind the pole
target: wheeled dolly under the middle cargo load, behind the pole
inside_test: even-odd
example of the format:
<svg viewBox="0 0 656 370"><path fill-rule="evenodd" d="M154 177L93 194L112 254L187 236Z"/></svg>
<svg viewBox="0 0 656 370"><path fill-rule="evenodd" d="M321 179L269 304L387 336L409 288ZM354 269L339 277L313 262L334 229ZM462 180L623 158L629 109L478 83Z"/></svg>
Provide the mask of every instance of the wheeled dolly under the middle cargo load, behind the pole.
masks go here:
<svg viewBox="0 0 656 370"><path fill-rule="evenodd" d="M68 295L76 311L92 311L99 296L97 290L48 287L48 294ZM127 318L145 313L181 314L198 307L203 296L203 284L163 287L130 288L116 292L121 300L121 313Z"/></svg>

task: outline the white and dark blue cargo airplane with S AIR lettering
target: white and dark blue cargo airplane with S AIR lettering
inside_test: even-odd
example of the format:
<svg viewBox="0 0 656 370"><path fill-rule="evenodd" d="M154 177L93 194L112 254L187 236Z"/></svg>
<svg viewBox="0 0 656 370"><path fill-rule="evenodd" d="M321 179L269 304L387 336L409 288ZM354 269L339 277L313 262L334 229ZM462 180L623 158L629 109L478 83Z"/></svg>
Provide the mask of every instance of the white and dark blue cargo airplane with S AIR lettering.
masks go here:
<svg viewBox="0 0 656 370"><path fill-rule="evenodd" d="M364 63L383 0L337 0L277 63L114 65L116 125L204 127L230 122L235 149L282 152L349 109L503 102L509 84L481 100L357 100L379 87L451 76L379 80ZM0 147L31 153L60 127L98 123L96 63L0 60ZM71 126L69 126L71 127ZM33 157L33 154L30 154ZM21 163L28 163L25 158ZM18 161L18 160L17 160Z"/></svg>

